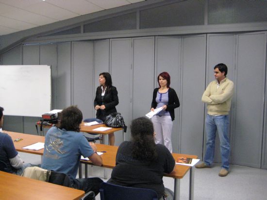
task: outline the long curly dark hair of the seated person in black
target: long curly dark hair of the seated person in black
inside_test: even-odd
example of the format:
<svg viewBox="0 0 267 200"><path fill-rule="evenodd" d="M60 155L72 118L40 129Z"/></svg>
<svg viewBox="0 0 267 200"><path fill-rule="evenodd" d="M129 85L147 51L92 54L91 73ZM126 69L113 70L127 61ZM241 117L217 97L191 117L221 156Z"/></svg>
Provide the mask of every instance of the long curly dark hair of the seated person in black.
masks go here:
<svg viewBox="0 0 267 200"><path fill-rule="evenodd" d="M132 121L130 128L133 142L133 158L154 161L158 155L153 137L154 128L152 122L146 117L139 117Z"/></svg>

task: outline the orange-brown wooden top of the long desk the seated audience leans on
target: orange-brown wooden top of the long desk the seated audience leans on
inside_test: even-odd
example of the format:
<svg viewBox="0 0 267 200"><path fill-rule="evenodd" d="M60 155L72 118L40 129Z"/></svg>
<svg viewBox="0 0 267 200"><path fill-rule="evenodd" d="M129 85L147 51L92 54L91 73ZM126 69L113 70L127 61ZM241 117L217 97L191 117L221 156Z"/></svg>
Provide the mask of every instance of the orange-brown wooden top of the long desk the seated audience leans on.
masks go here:
<svg viewBox="0 0 267 200"><path fill-rule="evenodd" d="M98 125L96 125L98 126ZM25 133L15 133L15 132L6 132L8 133L13 140L17 138L23 138L23 140L19 142L14 142L15 148L17 151L26 152L26 153L33 153L33 154L39 154L43 155L44 149L42 150L24 150L22 147L32 145L36 142L45 142L44 136L38 136L38 135L31 135L31 134L25 134ZM116 154L117 154L117 146L110 146L110 145L102 145L97 144L98 151L106 151L104 152L101 157L103 161L103 167L107 168L113 168L116 165ZM189 157L189 158L198 158L196 155L188 155L188 154L180 154L180 153L172 153L172 156L175 160L177 160L178 157ZM82 161L82 163L85 164L92 164L90 161ZM184 165L175 165L174 171L170 174L165 174L164 176L172 177L176 179L182 179L184 175L187 173L187 171L190 169L189 166Z"/></svg>

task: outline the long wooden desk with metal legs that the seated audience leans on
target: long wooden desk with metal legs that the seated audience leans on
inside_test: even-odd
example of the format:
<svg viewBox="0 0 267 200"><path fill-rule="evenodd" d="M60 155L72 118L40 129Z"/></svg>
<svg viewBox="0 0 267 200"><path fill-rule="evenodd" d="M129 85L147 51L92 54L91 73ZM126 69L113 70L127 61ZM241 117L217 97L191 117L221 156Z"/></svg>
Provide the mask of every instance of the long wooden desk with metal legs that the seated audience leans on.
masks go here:
<svg viewBox="0 0 267 200"><path fill-rule="evenodd" d="M44 150L23 150L22 147L25 147L27 145L31 145L36 142L44 142L45 137L44 136L37 136L37 135L30 135L25 133L14 133L14 132L6 132L8 133L13 140L16 138L23 138L23 140L19 142L14 142L15 148L17 151L27 152L27 153L34 153L43 155ZM102 145L102 144L96 144L97 149L99 151L106 151L104 152L101 157L103 161L103 167L106 168L113 168L116 165L116 154L117 154L117 146L109 146L109 145ZM176 160L178 157L184 156L184 157L190 157L190 158L197 158L196 155L187 155L187 154L179 154L179 153L172 153L173 158ZM83 161L81 160L81 163L92 165L91 161ZM174 178L174 200L180 199L180 179L182 179L185 174L190 171L190 181L189 181L189 200L193 200L194 198L194 168L195 167L189 167L184 165L175 165L174 171L170 174L164 174L164 176ZM87 169L87 167L86 167ZM79 171L80 172L80 171ZM86 177L86 171L85 171L85 177Z"/></svg>

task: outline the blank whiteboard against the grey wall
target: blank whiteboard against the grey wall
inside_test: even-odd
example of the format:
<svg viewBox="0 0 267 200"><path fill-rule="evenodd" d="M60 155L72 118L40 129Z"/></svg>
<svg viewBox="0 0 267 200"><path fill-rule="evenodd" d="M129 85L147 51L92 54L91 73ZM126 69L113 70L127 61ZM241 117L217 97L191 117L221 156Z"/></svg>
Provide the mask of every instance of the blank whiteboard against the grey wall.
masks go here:
<svg viewBox="0 0 267 200"><path fill-rule="evenodd" d="M4 115L41 117L51 110L51 68L0 65L0 106Z"/></svg>

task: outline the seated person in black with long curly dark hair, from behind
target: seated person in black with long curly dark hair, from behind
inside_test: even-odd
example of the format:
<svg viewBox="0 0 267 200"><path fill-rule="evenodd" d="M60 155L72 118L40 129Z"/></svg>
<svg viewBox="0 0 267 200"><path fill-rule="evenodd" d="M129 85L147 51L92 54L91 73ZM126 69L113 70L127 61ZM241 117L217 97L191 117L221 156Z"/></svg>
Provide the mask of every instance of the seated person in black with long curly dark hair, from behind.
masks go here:
<svg viewBox="0 0 267 200"><path fill-rule="evenodd" d="M155 144L153 124L149 119L134 119L131 134L132 140L121 143L118 148L116 167L108 183L152 189L159 200L164 200L163 173L173 171L175 160L164 145Z"/></svg>

